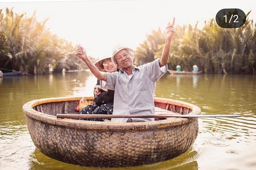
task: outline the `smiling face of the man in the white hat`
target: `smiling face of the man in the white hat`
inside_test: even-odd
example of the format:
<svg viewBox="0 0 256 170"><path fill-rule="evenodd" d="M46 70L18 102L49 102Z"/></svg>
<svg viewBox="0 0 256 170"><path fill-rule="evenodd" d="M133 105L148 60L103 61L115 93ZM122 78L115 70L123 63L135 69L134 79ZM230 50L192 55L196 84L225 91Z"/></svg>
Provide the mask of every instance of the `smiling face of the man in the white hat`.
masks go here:
<svg viewBox="0 0 256 170"><path fill-rule="evenodd" d="M133 67L133 59L132 56L127 53L126 49L122 49L116 53L114 56L117 65L121 67L122 69L126 69L129 67Z"/></svg>

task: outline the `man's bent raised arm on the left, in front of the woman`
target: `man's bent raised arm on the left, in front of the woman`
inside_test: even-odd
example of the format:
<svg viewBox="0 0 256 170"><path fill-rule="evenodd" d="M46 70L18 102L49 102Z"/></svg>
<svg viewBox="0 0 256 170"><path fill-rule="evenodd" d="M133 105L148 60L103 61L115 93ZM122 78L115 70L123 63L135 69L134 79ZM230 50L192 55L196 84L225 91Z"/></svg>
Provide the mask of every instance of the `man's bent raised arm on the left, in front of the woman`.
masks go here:
<svg viewBox="0 0 256 170"><path fill-rule="evenodd" d="M75 51L75 55L81 58L85 64L89 67L90 71L93 75L99 80L107 81L107 74L105 72L100 72L99 69L91 62L91 60L87 57L85 49L78 44L77 50Z"/></svg>

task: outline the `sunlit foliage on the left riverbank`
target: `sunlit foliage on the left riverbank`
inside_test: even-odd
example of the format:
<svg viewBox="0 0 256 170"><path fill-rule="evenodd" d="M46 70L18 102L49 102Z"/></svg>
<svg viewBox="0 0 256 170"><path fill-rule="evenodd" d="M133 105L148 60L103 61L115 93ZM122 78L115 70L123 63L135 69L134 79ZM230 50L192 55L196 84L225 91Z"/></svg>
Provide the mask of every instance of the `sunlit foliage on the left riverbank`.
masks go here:
<svg viewBox="0 0 256 170"><path fill-rule="evenodd" d="M72 43L51 34L46 22L36 21L36 12L27 17L13 13L13 8L6 8L5 14L0 10L0 67L31 74L47 73L48 64L54 71L85 67Z"/></svg>

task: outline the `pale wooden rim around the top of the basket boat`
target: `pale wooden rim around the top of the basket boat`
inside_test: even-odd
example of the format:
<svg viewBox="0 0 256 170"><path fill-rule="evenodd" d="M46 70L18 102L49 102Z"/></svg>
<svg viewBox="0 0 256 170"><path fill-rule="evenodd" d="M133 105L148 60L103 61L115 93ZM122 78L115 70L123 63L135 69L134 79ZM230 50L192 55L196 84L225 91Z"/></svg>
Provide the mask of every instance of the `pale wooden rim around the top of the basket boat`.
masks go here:
<svg viewBox="0 0 256 170"><path fill-rule="evenodd" d="M75 119L60 119L54 115L49 115L42 113L33 109L33 107L45 103L53 102L64 102L64 101L79 101L82 97L58 97L58 98L43 98L28 101L23 105L23 113L32 119L38 120L40 122L58 125L67 128L77 128L86 130L109 130L109 131L134 131L134 130L154 130L161 128L175 127L183 125L197 120L198 118L174 118L165 120L156 120L153 122L98 122L98 121L87 121L87 120L75 120ZM84 97L88 100L93 100L94 97ZM190 103L183 101L178 101L174 99L167 98L154 98L155 102L174 104L176 106L186 107L192 111L188 115L199 115L201 114L201 109Z"/></svg>

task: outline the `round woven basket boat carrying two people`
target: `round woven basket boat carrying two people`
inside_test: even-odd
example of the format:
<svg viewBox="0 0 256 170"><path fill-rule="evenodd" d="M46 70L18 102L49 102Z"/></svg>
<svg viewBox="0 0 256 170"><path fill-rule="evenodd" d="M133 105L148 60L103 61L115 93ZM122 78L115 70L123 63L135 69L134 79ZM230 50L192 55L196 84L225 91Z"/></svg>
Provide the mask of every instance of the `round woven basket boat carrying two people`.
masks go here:
<svg viewBox="0 0 256 170"><path fill-rule="evenodd" d="M93 97L85 97L93 100ZM30 136L48 157L89 167L129 167L169 160L186 152L198 133L198 118L153 122L97 122L57 119L74 112L80 97L46 98L23 105ZM193 104L155 98L155 107L201 114Z"/></svg>

